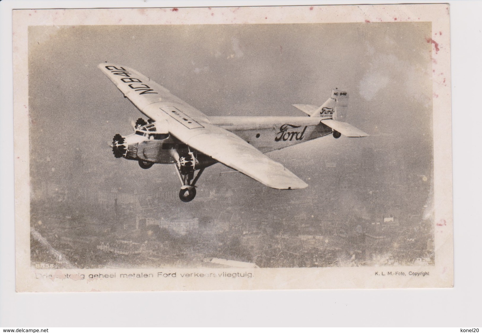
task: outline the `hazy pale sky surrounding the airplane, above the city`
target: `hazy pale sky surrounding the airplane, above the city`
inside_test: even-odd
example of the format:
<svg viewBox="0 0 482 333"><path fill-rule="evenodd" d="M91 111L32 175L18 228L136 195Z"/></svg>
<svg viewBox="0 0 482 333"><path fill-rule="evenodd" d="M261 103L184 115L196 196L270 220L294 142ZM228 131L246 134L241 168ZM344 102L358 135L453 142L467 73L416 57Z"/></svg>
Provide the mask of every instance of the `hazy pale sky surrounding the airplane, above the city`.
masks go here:
<svg viewBox="0 0 482 333"><path fill-rule="evenodd" d="M382 170L381 181L401 169L430 177L430 36L426 22L30 27L33 181L72 177L73 187L105 186L72 176L72 170L97 166L113 186L142 190L151 178L162 178L163 189L177 196L173 166L142 170L114 158L108 146L114 134L130 134L130 121L143 115L97 69L104 61L140 71L207 115L302 116L291 104L321 105L331 88L348 91L348 123L371 136L327 137L268 153L310 185L284 191L286 200L293 193L322 199L317 166L339 156L351 163L370 158ZM363 156L363 148L375 153ZM228 170L210 167L198 185L276 191L243 175L219 177Z"/></svg>

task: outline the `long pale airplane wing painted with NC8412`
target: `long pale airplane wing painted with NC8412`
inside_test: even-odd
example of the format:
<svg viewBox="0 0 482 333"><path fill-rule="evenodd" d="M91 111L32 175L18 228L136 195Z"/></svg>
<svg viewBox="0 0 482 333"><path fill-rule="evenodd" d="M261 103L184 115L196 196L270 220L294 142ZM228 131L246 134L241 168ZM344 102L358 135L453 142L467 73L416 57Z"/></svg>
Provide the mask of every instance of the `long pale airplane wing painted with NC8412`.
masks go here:
<svg viewBox="0 0 482 333"><path fill-rule="evenodd" d="M219 126L146 76L115 64L99 66L125 97L144 114L167 124L171 135L222 164L276 189L308 186L237 135Z"/></svg>

